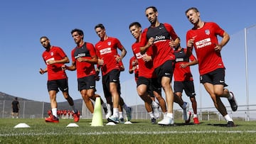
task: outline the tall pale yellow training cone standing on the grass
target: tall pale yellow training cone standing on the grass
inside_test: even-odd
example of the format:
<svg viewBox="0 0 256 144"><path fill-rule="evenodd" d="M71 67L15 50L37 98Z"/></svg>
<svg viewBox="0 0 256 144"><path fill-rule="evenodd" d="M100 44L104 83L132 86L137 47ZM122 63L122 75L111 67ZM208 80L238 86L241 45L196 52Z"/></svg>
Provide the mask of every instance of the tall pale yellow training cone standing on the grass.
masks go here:
<svg viewBox="0 0 256 144"><path fill-rule="evenodd" d="M103 126L100 97L97 97L96 101L95 101L95 109L94 109L93 116L92 116L91 126Z"/></svg>

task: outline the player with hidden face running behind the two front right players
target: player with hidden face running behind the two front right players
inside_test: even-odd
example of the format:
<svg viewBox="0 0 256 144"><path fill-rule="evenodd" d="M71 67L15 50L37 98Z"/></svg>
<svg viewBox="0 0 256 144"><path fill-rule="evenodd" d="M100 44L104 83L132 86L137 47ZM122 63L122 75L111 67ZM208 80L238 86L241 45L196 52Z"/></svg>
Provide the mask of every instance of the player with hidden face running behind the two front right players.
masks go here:
<svg viewBox="0 0 256 144"><path fill-rule="evenodd" d="M193 123L199 124L197 116L196 92L193 84L193 75L191 74L191 65L198 64L196 57L191 54L190 57L186 55L186 48L181 48L181 39L178 38L178 46L174 50L176 57L174 64L174 102L178 103L183 109L183 120L185 123L190 122L191 113L188 113L189 105L182 99L182 92L186 95L192 103L193 108Z"/></svg>

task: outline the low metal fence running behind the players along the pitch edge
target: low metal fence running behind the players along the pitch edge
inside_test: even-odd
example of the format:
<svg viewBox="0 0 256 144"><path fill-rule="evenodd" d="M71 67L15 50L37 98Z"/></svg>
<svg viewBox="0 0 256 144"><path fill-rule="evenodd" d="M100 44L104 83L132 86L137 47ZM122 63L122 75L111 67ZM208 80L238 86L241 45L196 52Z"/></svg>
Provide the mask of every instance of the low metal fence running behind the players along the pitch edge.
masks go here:
<svg viewBox="0 0 256 144"><path fill-rule="evenodd" d="M0 101L0 116L1 118L11 118L11 102L12 101ZM50 106L45 102L38 101L19 101L20 110L19 110L19 118L44 118L48 116L48 110ZM69 107L69 106L67 106ZM235 119L240 119L242 121L247 121L247 105L238 106L238 111L230 111L230 107L227 107L228 113L231 117ZM256 104L249 105L250 109L250 121L256 120ZM161 109L160 109L161 111ZM174 110L174 117L176 119L182 119L182 109ZM193 113L193 109L190 109ZM105 113L102 109L102 116L105 118ZM215 107L206 107L198 109L198 116L200 120L224 120L223 116L218 113ZM126 113L124 111L124 118L126 117ZM69 118L67 116L60 116L60 118ZM92 114L85 106L84 102L82 103L82 113L81 118L92 118ZM149 114L146 112L144 105L132 106L132 118L133 119L149 119Z"/></svg>

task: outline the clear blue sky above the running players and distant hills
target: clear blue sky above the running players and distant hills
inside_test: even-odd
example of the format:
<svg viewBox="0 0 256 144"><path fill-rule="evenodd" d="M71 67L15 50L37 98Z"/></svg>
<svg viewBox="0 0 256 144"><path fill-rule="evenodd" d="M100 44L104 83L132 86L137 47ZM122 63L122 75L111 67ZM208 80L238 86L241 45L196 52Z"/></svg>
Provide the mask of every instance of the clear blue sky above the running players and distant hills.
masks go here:
<svg viewBox="0 0 256 144"><path fill-rule="evenodd" d="M43 35L48 36L51 44L63 48L71 60L70 52L75 47L75 43L70 31L73 28L82 29L85 33L85 41L95 44L99 38L94 31L94 26L103 23L107 35L119 38L124 48L127 49L127 55L123 60L126 70L122 72L120 77L122 96L129 105L143 104L136 93L134 75L128 72L129 58L132 57L131 45L134 43L134 38L129 33L128 27L129 23L134 21L139 21L143 28L149 26L149 21L144 14L147 6L156 6L159 10L159 21L170 23L174 27L181 38L182 46L186 45L184 43L186 31L192 27L185 16L185 11L192 6L199 9L203 21L218 23L230 35L242 34L244 28L256 24L255 13L253 12L256 6L254 0L246 1L246 3L245 1L223 0L215 0L214 2L203 0L164 0L157 2L137 0L1 1L0 92L25 99L48 102L47 74L41 75L38 72L40 68L46 67L41 57L44 48L41 46L39 38ZM252 35L252 38L254 36ZM223 50L223 60L227 67L226 81L230 86L228 88L235 91L239 104L246 104L244 44L242 44L243 41L239 35L235 38L235 40L230 40L230 43ZM238 47L239 41L241 43ZM252 52L250 51L250 53ZM253 59L251 58L251 60ZM252 66L252 62L250 66L252 73L255 71L255 67ZM192 67L192 72L198 102L201 94L200 101L203 101L201 106L213 106L210 96L198 84L197 66ZM70 95L73 96L73 99L80 99L76 72L67 73ZM250 82L255 82L255 77L251 77ZM97 82L98 94L102 94L100 83ZM251 84L249 90L252 92L255 85ZM62 94L59 93L57 97L58 101L65 101ZM186 96L183 97L188 100ZM255 101L255 98L250 98L250 100ZM226 103L226 100L224 101ZM251 104L255 104L255 102L251 102Z"/></svg>

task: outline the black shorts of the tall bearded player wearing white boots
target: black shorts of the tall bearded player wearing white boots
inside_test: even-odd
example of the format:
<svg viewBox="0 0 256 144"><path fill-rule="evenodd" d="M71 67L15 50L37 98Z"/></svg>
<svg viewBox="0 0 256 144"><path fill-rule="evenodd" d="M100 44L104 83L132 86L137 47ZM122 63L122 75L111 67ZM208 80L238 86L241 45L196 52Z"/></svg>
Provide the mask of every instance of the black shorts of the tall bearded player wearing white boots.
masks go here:
<svg viewBox="0 0 256 144"><path fill-rule="evenodd" d="M172 79L174 74L174 62L173 60L167 60L163 65L156 67L154 72L156 73L157 80L161 84L162 77L169 77Z"/></svg>

